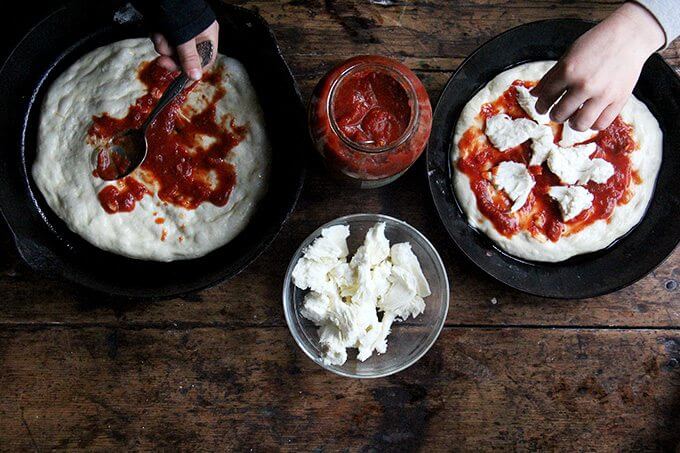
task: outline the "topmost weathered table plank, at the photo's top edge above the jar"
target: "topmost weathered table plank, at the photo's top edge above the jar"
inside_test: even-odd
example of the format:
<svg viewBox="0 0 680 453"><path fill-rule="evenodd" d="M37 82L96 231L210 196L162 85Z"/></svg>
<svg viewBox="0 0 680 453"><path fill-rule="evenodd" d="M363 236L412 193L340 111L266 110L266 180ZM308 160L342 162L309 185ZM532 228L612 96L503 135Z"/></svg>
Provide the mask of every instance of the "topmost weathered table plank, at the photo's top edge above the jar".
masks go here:
<svg viewBox="0 0 680 453"><path fill-rule="evenodd" d="M272 25L284 54L326 61L360 53L405 59L420 69L452 70L456 58L509 28L554 18L601 20L620 1L240 1ZM304 26L301 27L300 24ZM667 50L677 58L678 45ZM295 64L294 64L295 66Z"/></svg>

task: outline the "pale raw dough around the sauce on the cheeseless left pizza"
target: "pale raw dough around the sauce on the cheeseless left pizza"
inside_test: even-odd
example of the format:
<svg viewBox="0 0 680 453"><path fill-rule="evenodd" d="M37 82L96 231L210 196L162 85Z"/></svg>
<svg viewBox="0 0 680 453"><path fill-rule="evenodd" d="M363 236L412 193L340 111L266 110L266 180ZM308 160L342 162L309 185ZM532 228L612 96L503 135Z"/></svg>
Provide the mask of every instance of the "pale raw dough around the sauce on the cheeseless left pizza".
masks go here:
<svg viewBox="0 0 680 453"><path fill-rule="evenodd" d="M97 195L112 182L92 175L88 129L94 115L127 114L146 93L137 78L138 67L156 56L149 39L128 39L90 52L64 72L42 107L33 178L68 227L101 249L144 260L196 258L226 244L247 225L266 190L269 143L245 68L218 55L212 71L221 72L226 95L216 105L216 119L231 115L236 125L248 125L245 138L227 157L237 175L228 203L219 207L204 202L190 210L164 203L154 193L137 201L131 212L105 212ZM214 88L209 84L199 84L182 113L200 112L210 90ZM159 217L164 223L156 223Z"/></svg>

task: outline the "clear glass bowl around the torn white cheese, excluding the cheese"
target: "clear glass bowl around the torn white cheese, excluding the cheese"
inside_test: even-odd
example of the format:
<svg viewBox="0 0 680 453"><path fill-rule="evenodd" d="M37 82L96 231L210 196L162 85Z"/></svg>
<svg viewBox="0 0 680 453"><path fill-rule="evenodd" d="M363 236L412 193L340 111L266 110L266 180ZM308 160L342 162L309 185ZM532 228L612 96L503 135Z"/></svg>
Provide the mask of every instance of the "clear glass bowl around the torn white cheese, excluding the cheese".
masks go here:
<svg viewBox="0 0 680 453"><path fill-rule="evenodd" d="M333 225L349 225L350 236L347 239L350 257L363 243L366 232L377 222L385 222L385 236L390 244L409 242L413 253L423 269L425 278L430 284L432 294L425 298L425 312L417 318L409 318L404 322L395 322L392 333L387 337L387 352L374 353L366 361L356 359L356 350L348 351L344 365L326 365L323 363L317 327L300 315L303 298L308 290L297 288L292 282L292 273L302 251L321 235L323 228ZM298 346L307 356L323 368L341 376L354 378L378 378L398 373L413 365L432 347L444 326L449 310L449 281L446 269L439 254L418 230L411 225L379 214L353 214L340 217L319 227L307 237L297 249L288 265L283 284L283 310L286 322Z"/></svg>

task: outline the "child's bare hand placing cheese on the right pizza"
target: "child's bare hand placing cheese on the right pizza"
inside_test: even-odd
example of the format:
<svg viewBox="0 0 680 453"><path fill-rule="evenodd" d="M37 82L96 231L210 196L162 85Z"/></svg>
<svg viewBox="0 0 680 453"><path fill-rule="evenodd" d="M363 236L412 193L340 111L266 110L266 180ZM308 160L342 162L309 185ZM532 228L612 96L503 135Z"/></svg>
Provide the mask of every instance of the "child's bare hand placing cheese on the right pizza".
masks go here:
<svg viewBox="0 0 680 453"><path fill-rule="evenodd" d="M626 3L572 45L532 93L536 110L574 129L604 129L621 112L642 65L665 42L664 32L645 8Z"/></svg>

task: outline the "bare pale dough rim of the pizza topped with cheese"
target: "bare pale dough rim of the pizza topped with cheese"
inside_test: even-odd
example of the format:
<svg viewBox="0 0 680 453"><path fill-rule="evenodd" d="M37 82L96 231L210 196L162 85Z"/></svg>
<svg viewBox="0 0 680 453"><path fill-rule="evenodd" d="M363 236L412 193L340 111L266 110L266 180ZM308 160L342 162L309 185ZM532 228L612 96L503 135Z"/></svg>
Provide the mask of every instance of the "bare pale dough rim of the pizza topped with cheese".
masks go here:
<svg viewBox="0 0 680 453"><path fill-rule="evenodd" d="M522 64L502 72L491 80L463 109L456 124L454 147L451 150L456 198L470 225L489 236L511 255L532 261L558 262L575 255L601 250L635 227L642 220L651 201L663 151L663 135L658 121L641 101L631 95L621 112L621 117L633 126L634 136L639 144L639 148L630 154L630 159L632 168L637 170L642 183L630 185L633 192L630 201L617 206L609 221L597 220L580 232L563 235L557 242L540 241L526 231L520 231L512 237L500 234L493 223L478 209L469 178L457 168L456 163L460 155L458 144L463 133L470 127L476 126L483 130L482 119L478 116L483 104L497 99L515 80L540 80L554 64L555 61Z"/></svg>

